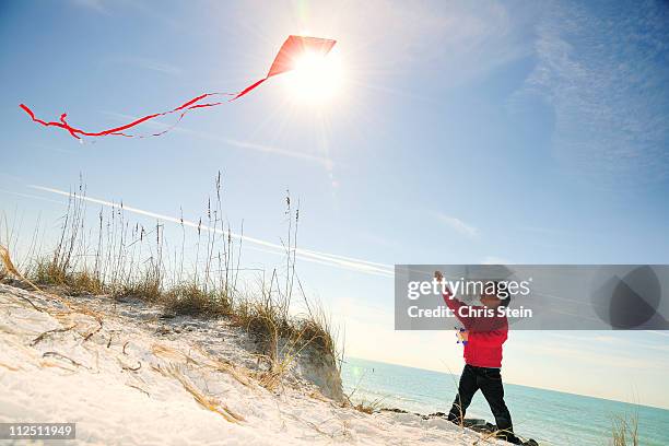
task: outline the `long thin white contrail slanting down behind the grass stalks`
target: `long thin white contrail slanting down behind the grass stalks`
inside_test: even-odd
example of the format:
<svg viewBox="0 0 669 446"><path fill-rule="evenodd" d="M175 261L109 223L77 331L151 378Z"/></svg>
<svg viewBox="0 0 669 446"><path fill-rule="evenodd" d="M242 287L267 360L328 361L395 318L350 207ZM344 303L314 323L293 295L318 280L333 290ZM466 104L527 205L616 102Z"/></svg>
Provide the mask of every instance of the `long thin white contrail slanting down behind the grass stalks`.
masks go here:
<svg viewBox="0 0 669 446"><path fill-rule="evenodd" d="M72 196L71 192L69 191L64 191L64 190L60 190L60 189L54 189L50 187L45 187L45 186L36 186L36 185L30 185L28 186L32 189L37 189L37 190L42 190L45 192L50 192L50 193L57 193L60 196L64 196L64 197L70 197ZM89 201L92 203L96 203L96 204L102 204L108 208L119 208L120 206L117 203L114 203L113 201L107 201L107 200L102 200L98 198L92 198L92 197L85 197L85 196L79 196L80 199L84 200L84 201ZM152 219L156 219L156 220L161 220L164 222L171 222L171 223L175 223L175 224L184 224L184 226L189 226L189 227L193 227L193 228L198 228L200 227L201 230L204 231L209 231L212 233L218 233L218 234L223 234L223 235L227 235L227 232L222 231L221 228L218 227L211 227L204 224L199 224L198 222L193 222L190 220L181 220L181 219L177 219L174 216L169 216L169 215L164 215L164 214L160 214L160 213L155 213L155 212L151 212L151 211L146 211L143 209L139 209L139 208L132 208L129 206L126 206L124 203L122 206L124 211L130 212L130 213L136 213L139 215L144 215L144 216L150 216ZM236 239L243 240L243 242L247 242L247 243L251 243L255 245L259 245L259 246L263 246L266 248L271 248L271 249L278 249L280 250L280 253L277 254L281 254L281 253L285 253L285 247L275 243L271 243L271 242L267 242L260 238L256 238L256 237L250 237L248 235L242 235L242 234L235 234L235 233L230 233L231 237L234 237ZM319 265L328 265L328 266L333 266L333 267L339 267L339 268L344 268L344 269L349 269L349 270L353 270L353 271L359 271L359 272L364 272L367 274L374 274L374 275L383 275L383 277L392 277L394 275L394 267L391 265L384 265L384 263L376 263L376 262L372 262L372 261L367 261L367 260L362 260L362 259L356 259L353 257L345 257L345 256L338 256L338 255L333 255L333 254L328 254L328 253L320 253L320 251L315 251L315 250L310 250L310 249L303 249L303 248L296 248L295 249L295 254L303 260L306 261L310 261L314 263L319 263Z"/></svg>

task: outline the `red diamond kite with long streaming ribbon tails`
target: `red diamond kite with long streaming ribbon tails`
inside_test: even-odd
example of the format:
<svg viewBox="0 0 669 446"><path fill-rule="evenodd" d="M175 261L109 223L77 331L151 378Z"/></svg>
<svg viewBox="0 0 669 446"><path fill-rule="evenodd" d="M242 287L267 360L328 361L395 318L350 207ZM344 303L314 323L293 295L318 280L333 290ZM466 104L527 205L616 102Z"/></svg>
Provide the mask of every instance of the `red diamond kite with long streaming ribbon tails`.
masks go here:
<svg viewBox="0 0 669 446"><path fill-rule="evenodd" d="M193 97L192 99L179 105L176 108L173 108L171 110L167 111L161 111L161 113L155 113L152 115L148 115L144 117L141 117L139 119L133 120L132 122L126 124L124 126L119 126L119 127L115 127L113 129L107 129L107 130L102 130L102 131L96 131L96 132L91 132L91 131L85 131L82 129L79 129L77 127L72 127L67 120L67 113L63 113L62 115L60 115L60 120L59 121L45 121L42 120L39 118L35 117L35 114L33 113L33 110L25 104L20 104L20 107L28 114L28 116L37 124L40 124L45 127L59 127L61 129L67 130L72 137L77 138L77 139L81 139L81 137L106 137L108 134L114 134L114 136L119 136L119 137L138 137L136 134L129 134L129 133L125 133L124 131L127 129L130 129L134 126L138 126L142 122L145 122L148 120L161 117L161 116L165 116L165 115L169 115L173 113L177 113L180 111L179 117L177 119L177 121L169 127L166 130L163 130L159 133L152 133L149 134L151 137L157 137L160 134L166 133L167 131L172 130L183 118L184 116L196 108L204 108L204 107L214 107L216 105L221 105L221 104L225 104L225 102L231 102L231 101L235 101L242 96L244 96L245 94L247 94L248 92L250 92L251 90L256 89L258 85L260 85L262 82L267 81L269 78L272 78L277 74L281 74L284 73L286 71L291 71L295 68L295 61L296 59L298 59L301 56L303 56L304 54L317 54L317 55L322 55L326 56L328 52L330 52L330 50L332 49L332 47L334 46L334 44L337 43L337 40L331 40L328 38L319 38L319 37L306 37L306 36L289 36L285 42L283 43L283 45L281 45L281 48L279 49L279 52L277 54L277 57L274 57L274 61L272 62L272 66L270 67L269 71L267 72L267 75L262 79L260 79L259 81L253 83L251 85L247 86L246 89L244 89L243 91L240 91L239 93L204 93L201 94L200 96ZM212 97L212 96L232 96L232 98L230 98L228 101L221 101L221 102L202 102L206 98ZM139 138L143 138L142 136L139 136Z"/></svg>

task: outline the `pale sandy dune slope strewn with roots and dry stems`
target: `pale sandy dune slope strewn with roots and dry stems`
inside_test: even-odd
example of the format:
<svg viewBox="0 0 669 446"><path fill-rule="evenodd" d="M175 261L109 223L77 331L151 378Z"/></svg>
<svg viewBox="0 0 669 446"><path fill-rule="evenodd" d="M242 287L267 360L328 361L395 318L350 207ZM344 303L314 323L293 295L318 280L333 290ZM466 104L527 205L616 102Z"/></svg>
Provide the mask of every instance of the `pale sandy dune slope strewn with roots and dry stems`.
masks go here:
<svg viewBox="0 0 669 446"><path fill-rule="evenodd" d="M133 301L68 302L103 315L102 329L94 316L0 285L0 422L77 422L87 444L493 444L439 419L343 409L294 373L269 391L249 377L253 341L225 321L165 320ZM38 339L48 330L64 331Z"/></svg>

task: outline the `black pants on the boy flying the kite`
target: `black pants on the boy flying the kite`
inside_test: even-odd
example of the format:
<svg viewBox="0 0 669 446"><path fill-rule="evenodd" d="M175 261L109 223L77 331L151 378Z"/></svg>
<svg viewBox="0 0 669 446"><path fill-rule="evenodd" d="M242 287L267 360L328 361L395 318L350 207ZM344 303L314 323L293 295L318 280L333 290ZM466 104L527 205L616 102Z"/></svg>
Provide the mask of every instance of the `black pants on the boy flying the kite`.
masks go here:
<svg viewBox="0 0 669 446"><path fill-rule="evenodd" d="M477 390L481 389L483 397L490 404L490 409L495 416L495 424L501 431L498 436L506 438L512 443L516 443L516 436L513 434L510 413L504 402L504 386L502 385L502 375L498 368L474 367L467 364L460 376L460 385L458 386L458 395L453 402L453 408L448 413L448 420L460 424L465 419L467 408L471 403Z"/></svg>

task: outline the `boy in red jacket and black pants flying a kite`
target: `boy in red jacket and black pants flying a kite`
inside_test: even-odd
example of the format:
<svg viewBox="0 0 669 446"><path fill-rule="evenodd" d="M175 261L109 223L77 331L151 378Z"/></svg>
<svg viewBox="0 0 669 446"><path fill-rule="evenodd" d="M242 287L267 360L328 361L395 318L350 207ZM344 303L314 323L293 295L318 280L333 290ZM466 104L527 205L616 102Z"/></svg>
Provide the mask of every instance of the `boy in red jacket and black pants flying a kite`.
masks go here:
<svg viewBox="0 0 669 446"><path fill-rule="evenodd" d="M434 278L439 283L444 280L441 271L435 271ZM500 316L496 309L498 306L508 305L510 298L502 300L495 293L486 293L486 289L489 286L484 286L481 294L483 306L470 307L474 312L461 312L460 308L467 307L467 305L455 298L448 287L444 293L446 305L455 313L467 330L462 333L462 339L466 341L463 342L466 365L460 376L458 395L448 413L448 420L461 424L471 399L477 390L481 389L495 416L495 423L500 431L498 437L513 444L521 444L520 439L514 435L510 413L504 402L504 386L500 374L502 344L507 338L508 322L506 316ZM483 310L484 308L493 310L494 316L468 316L468 313L477 314L476 310Z"/></svg>

